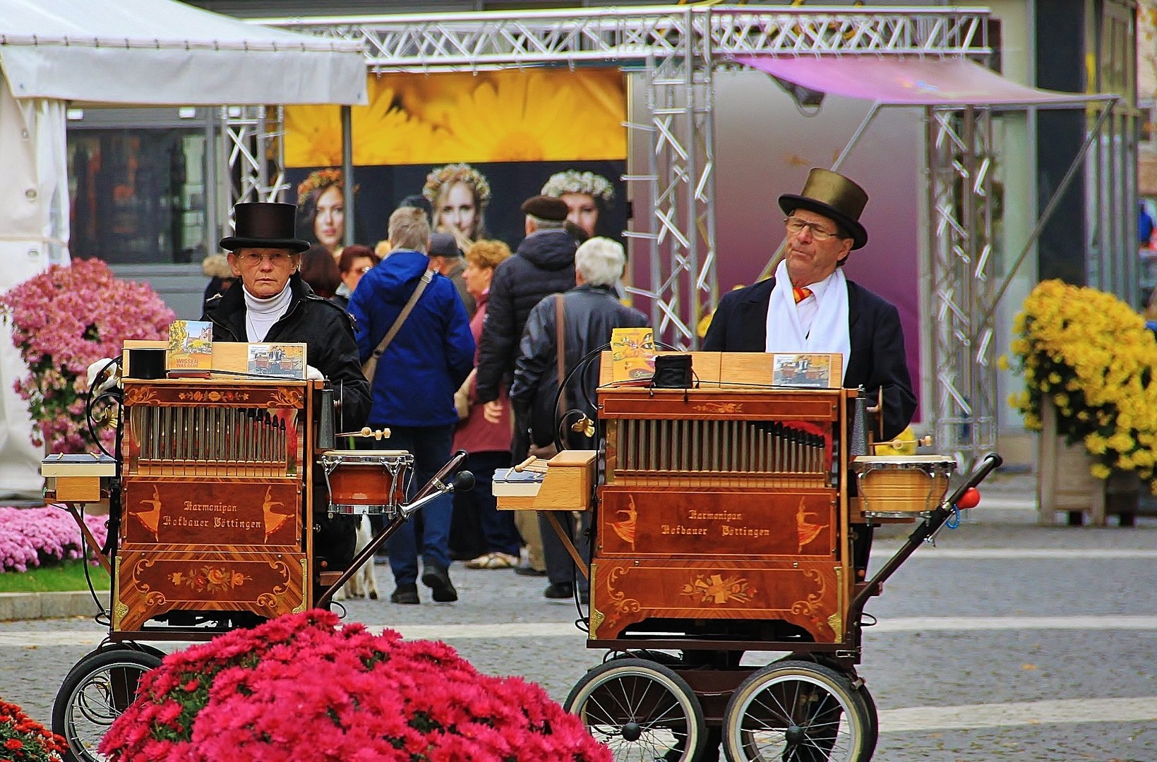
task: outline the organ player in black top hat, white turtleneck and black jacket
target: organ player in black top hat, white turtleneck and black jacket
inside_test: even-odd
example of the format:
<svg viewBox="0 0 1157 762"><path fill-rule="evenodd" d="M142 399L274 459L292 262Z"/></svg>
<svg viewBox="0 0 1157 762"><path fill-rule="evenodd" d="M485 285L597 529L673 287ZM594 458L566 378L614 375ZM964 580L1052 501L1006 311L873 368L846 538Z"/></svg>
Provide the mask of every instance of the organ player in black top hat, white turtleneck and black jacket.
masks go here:
<svg viewBox="0 0 1157 762"><path fill-rule="evenodd" d="M301 279L301 252L309 242L294 237L292 204L238 204L235 234L221 239L229 267L241 280L205 304L214 341L304 343L310 378L325 377L341 394L342 430L361 428L369 415L369 384L358 361L353 325L345 311L314 294ZM315 554L326 569L344 570L354 557L352 517L327 517L325 476L315 469ZM317 594L315 589L315 595Z"/></svg>

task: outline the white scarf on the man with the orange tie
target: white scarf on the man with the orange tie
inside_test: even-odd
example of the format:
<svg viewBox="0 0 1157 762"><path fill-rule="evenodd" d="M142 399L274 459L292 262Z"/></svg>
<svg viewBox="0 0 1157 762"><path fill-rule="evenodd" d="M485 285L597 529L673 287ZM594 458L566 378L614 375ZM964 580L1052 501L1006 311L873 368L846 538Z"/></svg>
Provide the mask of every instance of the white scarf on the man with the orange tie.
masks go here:
<svg viewBox="0 0 1157 762"><path fill-rule="evenodd" d="M816 283L811 298L818 304L811 328L805 333L799 324L799 305L791 295L788 266L781 260L775 268L775 288L772 289L772 299L767 305L765 349L786 353L838 352L843 355L846 373L852 355L852 334L848 328L848 281L843 271L837 267L834 273Z"/></svg>

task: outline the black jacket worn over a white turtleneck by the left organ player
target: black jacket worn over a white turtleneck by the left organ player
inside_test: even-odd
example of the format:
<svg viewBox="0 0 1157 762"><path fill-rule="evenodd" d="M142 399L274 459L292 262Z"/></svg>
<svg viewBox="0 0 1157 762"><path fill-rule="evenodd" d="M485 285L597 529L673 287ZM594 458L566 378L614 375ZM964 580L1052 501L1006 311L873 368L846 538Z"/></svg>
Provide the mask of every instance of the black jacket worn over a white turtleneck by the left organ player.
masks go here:
<svg viewBox="0 0 1157 762"><path fill-rule="evenodd" d="M369 384L358 362L349 316L314 294L297 273L289 276L289 310L273 324L265 341L304 343L307 364L330 379L336 394L338 390L342 394L341 420L334 423L342 431L355 431L369 417ZM214 341L248 341L241 284L209 299L201 319L213 321Z"/></svg>

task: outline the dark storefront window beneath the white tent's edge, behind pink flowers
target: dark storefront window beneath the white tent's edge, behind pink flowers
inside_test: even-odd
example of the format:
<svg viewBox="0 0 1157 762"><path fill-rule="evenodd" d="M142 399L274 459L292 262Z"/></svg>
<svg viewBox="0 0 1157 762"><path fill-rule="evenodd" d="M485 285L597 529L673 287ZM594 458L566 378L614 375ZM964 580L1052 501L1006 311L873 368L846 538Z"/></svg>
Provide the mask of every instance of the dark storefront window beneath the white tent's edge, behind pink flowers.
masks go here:
<svg viewBox="0 0 1157 762"><path fill-rule="evenodd" d="M205 133L68 131L69 251L113 264L205 257Z"/></svg>

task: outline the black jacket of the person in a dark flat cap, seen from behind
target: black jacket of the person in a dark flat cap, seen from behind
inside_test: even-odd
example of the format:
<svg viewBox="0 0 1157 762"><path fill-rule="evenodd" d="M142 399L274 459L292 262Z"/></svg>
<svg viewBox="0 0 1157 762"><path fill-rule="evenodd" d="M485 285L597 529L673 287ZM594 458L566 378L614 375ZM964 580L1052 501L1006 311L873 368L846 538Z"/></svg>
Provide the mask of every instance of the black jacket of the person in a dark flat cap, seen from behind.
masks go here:
<svg viewBox="0 0 1157 762"><path fill-rule="evenodd" d="M498 399L499 390L510 382L518 339L535 305L574 284L575 242L566 230L530 234L515 256L494 269L478 348L479 402Z"/></svg>

